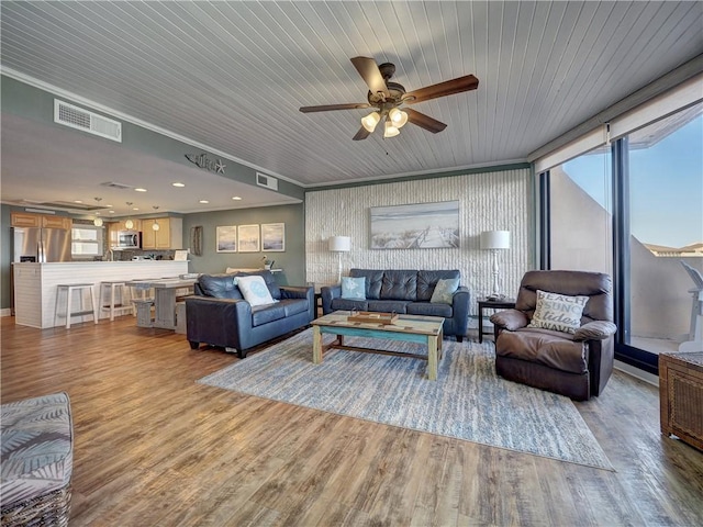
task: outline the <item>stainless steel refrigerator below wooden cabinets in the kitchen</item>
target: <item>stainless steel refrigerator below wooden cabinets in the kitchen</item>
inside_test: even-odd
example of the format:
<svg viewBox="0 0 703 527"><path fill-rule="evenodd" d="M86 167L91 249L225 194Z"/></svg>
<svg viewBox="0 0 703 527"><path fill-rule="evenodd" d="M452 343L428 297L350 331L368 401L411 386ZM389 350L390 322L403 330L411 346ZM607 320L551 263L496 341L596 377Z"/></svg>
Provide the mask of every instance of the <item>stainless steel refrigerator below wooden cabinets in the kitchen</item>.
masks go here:
<svg viewBox="0 0 703 527"><path fill-rule="evenodd" d="M70 261L70 229L13 227L12 261Z"/></svg>

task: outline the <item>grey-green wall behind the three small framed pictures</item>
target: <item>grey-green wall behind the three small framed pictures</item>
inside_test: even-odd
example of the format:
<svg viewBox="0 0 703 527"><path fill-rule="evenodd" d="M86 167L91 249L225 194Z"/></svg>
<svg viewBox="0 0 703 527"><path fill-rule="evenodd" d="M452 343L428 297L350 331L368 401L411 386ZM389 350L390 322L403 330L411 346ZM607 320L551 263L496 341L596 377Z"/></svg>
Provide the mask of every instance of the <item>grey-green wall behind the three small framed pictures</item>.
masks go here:
<svg viewBox="0 0 703 527"><path fill-rule="evenodd" d="M286 224L286 250L283 253L217 253L215 233L219 225ZM183 216L183 247L191 247L191 228L202 226L202 256L189 256L190 272L209 274L224 272L227 267L259 268L266 255L275 260L274 267L283 269L277 274L281 285L305 284L305 214L302 203L295 205L237 209L232 211L202 212Z"/></svg>

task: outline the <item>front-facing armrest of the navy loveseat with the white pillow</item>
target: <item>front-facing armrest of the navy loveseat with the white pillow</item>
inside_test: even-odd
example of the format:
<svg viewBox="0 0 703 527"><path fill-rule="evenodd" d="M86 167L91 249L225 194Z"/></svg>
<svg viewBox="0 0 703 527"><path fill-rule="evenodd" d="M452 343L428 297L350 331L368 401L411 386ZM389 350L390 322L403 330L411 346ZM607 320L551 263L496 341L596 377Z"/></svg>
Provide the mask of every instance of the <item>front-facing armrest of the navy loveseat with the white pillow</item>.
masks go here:
<svg viewBox="0 0 703 527"><path fill-rule="evenodd" d="M186 334L193 344L236 348L249 347L252 305L246 300L186 296Z"/></svg>

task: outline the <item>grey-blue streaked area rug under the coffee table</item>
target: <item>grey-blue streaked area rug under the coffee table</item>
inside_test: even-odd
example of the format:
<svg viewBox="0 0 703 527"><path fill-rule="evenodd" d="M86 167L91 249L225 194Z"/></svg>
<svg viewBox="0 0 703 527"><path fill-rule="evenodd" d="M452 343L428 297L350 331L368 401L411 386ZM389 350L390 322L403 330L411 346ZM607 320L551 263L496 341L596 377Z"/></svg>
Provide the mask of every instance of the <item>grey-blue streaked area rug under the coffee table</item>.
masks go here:
<svg viewBox="0 0 703 527"><path fill-rule="evenodd" d="M331 335L323 335L325 343ZM423 346L345 338L349 346L425 354ZM445 340L437 381L424 360L331 350L312 363L312 330L198 382L335 414L614 470L568 397L495 375L493 344Z"/></svg>

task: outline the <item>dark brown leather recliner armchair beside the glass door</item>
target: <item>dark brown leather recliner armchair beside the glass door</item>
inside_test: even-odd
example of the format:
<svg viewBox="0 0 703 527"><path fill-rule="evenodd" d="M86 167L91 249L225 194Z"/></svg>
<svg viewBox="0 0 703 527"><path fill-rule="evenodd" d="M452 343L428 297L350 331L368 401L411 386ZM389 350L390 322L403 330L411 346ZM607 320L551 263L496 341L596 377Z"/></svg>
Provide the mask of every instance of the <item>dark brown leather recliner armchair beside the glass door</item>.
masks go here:
<svg viewBox="0 0 703 527"><path fill-rule="evenodd" d="M537 291L588 296L574 333L529 327ZM507 380L585 401L600 395L613 371L612 279L584 271L528 271L515 309L491 316L495 372ZM577 319L578 325L578 319Z"/></svg>

